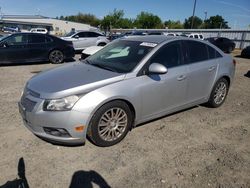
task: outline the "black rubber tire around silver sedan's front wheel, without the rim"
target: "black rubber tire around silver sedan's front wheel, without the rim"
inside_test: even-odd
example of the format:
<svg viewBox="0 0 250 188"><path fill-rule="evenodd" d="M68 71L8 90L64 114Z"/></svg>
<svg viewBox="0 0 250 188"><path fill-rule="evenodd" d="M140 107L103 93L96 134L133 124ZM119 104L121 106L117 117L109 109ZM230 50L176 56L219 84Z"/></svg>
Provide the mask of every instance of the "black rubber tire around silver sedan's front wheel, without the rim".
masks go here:
<svg viewBox="0 0 250 188"><path fill-rule="evenodd" d="M98 123L99 123L99 120L102 117L102 115L107 110L109 110L111 108L115 108L115 107L121 108L125 111L125 113L127 114L127 117L128 117L128 124L127 124L127 127L126 127L125 131L123 132L122 136L120 136L117 140L105 141L98 134ZM93 117L90 121L89 128L88 128L88 137L97 146L108 147L108 146L115 145L115 144L119 143L121 140L123 140L123 138L127 135L128 131L130 130L131 125L132 125L132 118L133 118L132 112L131 112L129 106L125 102L117 100L117 101L112 101L112 102L109 102L107 104L104 104L95 112L95 114L93 115Z"/></svg>

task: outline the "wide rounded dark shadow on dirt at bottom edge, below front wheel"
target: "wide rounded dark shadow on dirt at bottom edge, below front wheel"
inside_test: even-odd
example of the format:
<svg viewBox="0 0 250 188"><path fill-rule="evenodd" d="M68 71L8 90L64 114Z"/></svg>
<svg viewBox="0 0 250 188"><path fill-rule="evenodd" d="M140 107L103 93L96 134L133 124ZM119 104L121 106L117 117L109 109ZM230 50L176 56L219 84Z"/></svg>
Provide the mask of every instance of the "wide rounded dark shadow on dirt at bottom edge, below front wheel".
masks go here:
<svg viewBox="0 0 250 188"><path fill-rule="evenodd" d="M93 184L100 188L111 187L99 173L81 170L74 173L69 188L93 188Z"/></svg>

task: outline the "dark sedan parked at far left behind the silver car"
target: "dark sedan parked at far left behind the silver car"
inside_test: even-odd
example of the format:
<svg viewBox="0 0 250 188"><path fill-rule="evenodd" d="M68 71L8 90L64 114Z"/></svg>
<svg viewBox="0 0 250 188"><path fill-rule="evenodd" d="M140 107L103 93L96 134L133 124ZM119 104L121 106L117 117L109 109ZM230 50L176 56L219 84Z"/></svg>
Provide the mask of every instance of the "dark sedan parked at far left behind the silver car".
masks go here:
<svg viewBox="0 0 250 188"><path fill-rule="evenodd" d="M73 44L39 33L15 33L0 41L0 64L50 61L62 63L75 56Z"/></svg>

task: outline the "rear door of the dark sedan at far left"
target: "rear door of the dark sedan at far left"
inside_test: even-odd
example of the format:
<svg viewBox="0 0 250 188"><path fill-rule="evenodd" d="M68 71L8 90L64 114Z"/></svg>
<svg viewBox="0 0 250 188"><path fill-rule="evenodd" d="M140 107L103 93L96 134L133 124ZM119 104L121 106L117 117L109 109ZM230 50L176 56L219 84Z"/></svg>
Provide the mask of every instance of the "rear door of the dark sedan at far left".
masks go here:
<svg viewBox="0 0 250 188"><path fill-rule="evenodd" d="M41 61L48 59L48 49L44 34L29 34L28 37L29 61Z"/></svg>

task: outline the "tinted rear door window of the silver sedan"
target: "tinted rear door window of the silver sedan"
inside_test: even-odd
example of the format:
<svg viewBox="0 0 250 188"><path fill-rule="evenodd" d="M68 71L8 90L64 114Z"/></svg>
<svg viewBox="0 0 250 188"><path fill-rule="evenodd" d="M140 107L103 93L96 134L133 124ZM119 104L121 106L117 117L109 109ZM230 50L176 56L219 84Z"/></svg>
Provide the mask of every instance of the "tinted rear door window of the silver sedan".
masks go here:
<svg viewBox="0 0 250 188"><path fill-rule="evenodd" d="M203 44L198 41L186 41L189 62L199 62L208 59L207 47L206 44Z"/></svg>

